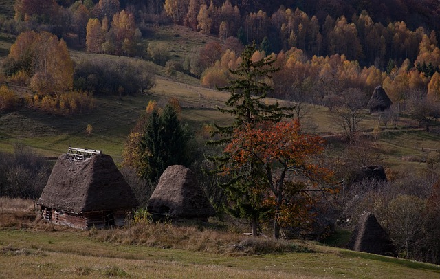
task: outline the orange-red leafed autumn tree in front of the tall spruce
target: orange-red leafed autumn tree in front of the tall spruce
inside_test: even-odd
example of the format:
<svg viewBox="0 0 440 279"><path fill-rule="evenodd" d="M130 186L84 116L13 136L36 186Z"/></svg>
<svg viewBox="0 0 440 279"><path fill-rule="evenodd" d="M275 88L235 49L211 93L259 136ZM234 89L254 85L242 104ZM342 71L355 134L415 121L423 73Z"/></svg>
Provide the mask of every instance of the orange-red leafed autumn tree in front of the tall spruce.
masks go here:
<svg viewBox="0 0 440 279"><path fill-rule="evenodd" d="M316 160L324 151L318 135L302 133L297 121L245 124L234 130L225 147L230 155L223 174L252 171L255 183L242 186L250 196L263 197L274 219L274 238L280 227L299 225L313 203L311 192L331 191L332 173Z"/></svg>

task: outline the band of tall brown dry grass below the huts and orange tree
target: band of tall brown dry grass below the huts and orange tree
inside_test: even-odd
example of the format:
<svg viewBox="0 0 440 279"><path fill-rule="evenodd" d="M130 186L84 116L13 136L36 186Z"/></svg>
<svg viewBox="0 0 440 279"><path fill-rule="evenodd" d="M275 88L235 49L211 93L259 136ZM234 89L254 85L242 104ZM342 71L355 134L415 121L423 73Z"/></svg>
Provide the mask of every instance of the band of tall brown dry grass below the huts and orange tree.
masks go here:
<svg viewBox="0 0 440 279"><path fill-rule="evenodd" d="M89 236L109 243L184 249L210 254L254 255L311 252L304 243L253 238L228 230L207 228L209 224L137 223L115 230L90 230Z"/></svg>

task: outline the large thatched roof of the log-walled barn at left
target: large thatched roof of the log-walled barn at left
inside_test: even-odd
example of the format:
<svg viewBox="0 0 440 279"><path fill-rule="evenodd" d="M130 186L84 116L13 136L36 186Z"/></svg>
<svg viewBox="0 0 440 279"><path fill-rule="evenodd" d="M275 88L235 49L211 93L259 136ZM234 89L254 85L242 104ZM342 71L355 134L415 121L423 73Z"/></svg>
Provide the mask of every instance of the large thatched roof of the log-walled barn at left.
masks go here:
<svg viewBox="0 0 440 279"><path fill-rule="evenodd" d="M73 161L66 154L58 157L39 204L68 212L128 209L139 205L109 155Z"/></svg>

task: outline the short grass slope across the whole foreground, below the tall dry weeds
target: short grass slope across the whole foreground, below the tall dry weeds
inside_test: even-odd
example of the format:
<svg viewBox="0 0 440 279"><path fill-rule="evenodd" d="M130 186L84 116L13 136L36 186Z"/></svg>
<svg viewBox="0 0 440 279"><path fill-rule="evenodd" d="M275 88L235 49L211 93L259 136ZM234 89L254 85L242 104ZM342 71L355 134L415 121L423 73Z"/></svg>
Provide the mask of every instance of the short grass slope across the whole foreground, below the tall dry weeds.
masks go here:
<svg viewBox="0 0 440 279"><path fill-rule="evenodd" d="M440 278L437 265L314 243L298 244L314 252L241 256L100 242L44 224L0 225L2 278Z"/></svg>

